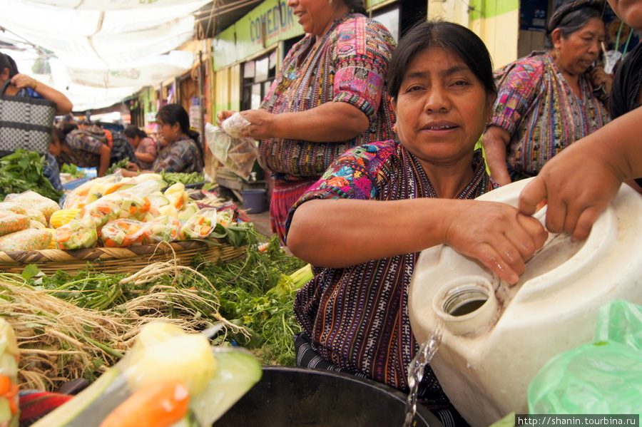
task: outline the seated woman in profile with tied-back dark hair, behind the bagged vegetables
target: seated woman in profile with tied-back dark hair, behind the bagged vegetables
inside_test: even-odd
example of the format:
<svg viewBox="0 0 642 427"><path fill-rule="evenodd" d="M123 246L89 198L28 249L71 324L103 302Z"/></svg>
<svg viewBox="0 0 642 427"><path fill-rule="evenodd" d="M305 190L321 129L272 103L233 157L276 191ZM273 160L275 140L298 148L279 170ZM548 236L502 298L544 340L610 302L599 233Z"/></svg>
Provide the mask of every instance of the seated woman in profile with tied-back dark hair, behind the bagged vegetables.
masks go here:
<svg viewBox="0 0 642 427"><path fill-rule="evenodd" d="M156 114L158 132L165 140L165 146L158 153L151 168L143 170L130 163L128 170L121 170L123 176L136 176L146 172L203 172L203 148L198 142L199 134L190 128L190 116L178 104L167 104Z"/></svg>

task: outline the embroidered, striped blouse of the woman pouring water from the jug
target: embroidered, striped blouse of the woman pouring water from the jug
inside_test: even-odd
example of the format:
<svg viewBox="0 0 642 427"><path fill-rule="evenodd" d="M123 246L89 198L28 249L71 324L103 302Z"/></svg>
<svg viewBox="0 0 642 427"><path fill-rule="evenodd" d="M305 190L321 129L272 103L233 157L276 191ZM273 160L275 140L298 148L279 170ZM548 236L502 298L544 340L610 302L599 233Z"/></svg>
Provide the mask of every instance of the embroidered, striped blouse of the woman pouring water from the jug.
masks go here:
<svg viewBox="0 0 642 427"><path fill-rule="evenodd" d="M474 179L457 198L492 190L481 152L474 155ZM342 155L292 207L313 199L402 200L437 197L419 160L392 140L370 143ZM394 230L382 230L394 235ZM355 250L359 250L355 247ZM410 330L408 286L419 252L377 259L347 268L315 267L315 277L297 293L297 321L327 361L408 391L407 366L419 349ZM428 369L422 399L433 408L447 404Z"/></svg>

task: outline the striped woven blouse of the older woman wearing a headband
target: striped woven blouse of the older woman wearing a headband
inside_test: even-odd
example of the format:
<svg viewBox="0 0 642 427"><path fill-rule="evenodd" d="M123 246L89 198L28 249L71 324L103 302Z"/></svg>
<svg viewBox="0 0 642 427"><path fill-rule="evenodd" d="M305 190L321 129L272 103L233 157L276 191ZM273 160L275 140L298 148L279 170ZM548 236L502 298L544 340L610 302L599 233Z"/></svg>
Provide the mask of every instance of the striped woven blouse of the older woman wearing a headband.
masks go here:
<svg viewBox="0 0 642 427"><path fill-rule="evenodd" d="M496 72L492 124L511 135L506 163L513 180L537 175L547 160L610 120L579 76L582 96L566 83L549 53L531 53Z"/></svg>

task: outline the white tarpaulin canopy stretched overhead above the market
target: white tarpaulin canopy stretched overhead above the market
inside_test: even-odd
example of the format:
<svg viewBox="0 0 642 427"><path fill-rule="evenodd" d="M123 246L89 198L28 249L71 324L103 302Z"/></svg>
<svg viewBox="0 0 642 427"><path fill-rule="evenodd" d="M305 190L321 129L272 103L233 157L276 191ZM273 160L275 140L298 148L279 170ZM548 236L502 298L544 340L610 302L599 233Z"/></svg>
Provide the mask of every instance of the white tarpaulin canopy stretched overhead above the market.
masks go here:
<svg viewBox="0 0 642 427"><path fill-rule="evenodd" d="M0 50L74 110L106 107L192 67L193 53L173 50L194 38L194 12L211 1L3 0L0 41L26 51ZM36 61L51 75L34 75Z"/></svg>

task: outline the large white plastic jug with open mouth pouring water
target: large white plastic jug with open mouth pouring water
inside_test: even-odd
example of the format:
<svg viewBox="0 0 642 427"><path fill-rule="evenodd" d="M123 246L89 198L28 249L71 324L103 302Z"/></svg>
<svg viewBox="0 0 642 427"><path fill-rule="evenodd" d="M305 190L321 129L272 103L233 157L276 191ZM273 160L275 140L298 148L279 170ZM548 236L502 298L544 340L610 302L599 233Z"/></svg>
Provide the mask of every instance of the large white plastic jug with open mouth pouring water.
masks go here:
<svg viewBox="0 0 642 427"><path fill-rule="evenodd" d="M527 182L479 200L516 206ZM420 342L443 327L432 369L466 421L485 427L513 411L528 413L537 371L593 341L598 308L613 299L642 304L642 196L627 185L586 240L549 236L514 287L450 247L424 250L409 287L409 315Z"/></svg>

